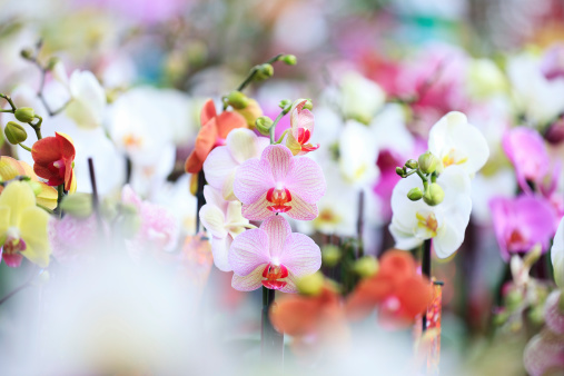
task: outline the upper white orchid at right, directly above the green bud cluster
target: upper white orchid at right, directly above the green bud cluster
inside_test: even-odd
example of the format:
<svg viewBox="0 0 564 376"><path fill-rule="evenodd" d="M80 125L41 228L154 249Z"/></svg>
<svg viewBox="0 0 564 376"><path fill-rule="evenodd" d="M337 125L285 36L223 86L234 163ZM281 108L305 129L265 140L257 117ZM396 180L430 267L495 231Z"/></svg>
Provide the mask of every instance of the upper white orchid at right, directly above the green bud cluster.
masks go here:
<svg viewBox="0 0 564 376"><path fill-rule="evenodd" d="M443 168L458 165L473 176L487 161L489 148L479 130L468 123L462 112L448 112L429 132L429 151Z"/></svg>

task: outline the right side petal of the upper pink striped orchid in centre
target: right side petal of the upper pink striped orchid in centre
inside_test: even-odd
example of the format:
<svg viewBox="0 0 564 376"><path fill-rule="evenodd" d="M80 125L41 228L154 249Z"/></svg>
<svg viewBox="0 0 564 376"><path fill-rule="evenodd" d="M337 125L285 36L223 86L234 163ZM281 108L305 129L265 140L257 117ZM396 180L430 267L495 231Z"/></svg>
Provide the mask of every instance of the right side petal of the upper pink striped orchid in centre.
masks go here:
<svg viewBox="0 0 564 376"><path fill-rule="evenodd" d="M293 195L299 195L304 201L317 202L327 189L323 170L317 162L309 158L296 158L294 168L286 177L286 188Z"/></svg>

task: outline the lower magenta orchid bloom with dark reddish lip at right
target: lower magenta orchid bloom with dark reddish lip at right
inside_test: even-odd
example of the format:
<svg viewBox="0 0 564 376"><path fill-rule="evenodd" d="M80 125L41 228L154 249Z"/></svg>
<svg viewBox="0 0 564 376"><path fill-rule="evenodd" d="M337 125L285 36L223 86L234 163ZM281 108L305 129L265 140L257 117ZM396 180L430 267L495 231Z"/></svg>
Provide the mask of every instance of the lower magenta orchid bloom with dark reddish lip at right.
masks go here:
<svg viewBox="0 0 564 376"><path fill-rule="evenodd" d="M514 199L496 197L489 201L492 218L502 257L509 259L509 254L526 253L540 244L543 250L548 249L554 236L555 211L551 204L532 195Z"/></svg>

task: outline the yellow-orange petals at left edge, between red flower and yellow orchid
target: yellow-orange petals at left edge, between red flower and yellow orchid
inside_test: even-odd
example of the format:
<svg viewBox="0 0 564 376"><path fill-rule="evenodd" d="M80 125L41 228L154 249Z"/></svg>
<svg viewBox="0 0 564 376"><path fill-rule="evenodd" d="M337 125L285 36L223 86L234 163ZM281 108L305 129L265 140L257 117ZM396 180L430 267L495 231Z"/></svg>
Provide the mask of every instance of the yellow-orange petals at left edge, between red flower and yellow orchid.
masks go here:
<svg viewBox="0 0 564 376"><path fill-rule="evenodd" d="M39 180L33 168L22 160L0 157L0 179L8 181L17 176L28 176L36 194L37 205L53 210L57 207L57 189Z"/></svg>

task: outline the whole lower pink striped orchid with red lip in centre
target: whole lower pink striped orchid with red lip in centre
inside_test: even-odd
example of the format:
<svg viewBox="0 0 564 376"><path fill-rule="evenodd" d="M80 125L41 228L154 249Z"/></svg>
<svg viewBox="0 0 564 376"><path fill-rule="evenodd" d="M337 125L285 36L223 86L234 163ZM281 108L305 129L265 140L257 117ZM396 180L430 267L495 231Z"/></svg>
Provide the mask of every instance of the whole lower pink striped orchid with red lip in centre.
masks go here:
<svg viewBox="0 0 564 376"><path fill-rule="evenodd" d="M239 291L265 286L296 293L295 279L319 270L321 253L314 240L291 232L286 219L275 216L234 239L229 264L234 270L231 286Z"/></svg>

